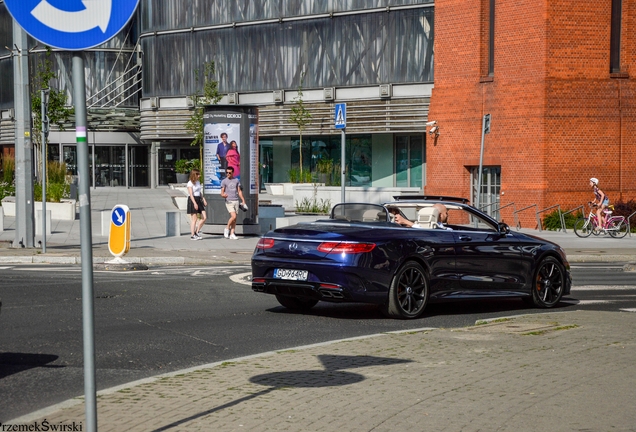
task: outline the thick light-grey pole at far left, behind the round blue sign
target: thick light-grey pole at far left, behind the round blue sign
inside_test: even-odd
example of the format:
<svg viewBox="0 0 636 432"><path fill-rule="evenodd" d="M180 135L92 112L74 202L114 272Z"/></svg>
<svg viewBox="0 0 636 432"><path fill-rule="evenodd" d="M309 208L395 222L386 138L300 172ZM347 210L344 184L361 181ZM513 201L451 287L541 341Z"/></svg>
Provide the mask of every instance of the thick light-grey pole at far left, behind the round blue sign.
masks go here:
<svg viewBox="0 0 636 432"><path fill-rule="evenodd" d="M13 247L32 248L35 243L33 209L33 142L29 100L29 51L27 35L13 21L13 97L15 100L15 239Z"/></svg>

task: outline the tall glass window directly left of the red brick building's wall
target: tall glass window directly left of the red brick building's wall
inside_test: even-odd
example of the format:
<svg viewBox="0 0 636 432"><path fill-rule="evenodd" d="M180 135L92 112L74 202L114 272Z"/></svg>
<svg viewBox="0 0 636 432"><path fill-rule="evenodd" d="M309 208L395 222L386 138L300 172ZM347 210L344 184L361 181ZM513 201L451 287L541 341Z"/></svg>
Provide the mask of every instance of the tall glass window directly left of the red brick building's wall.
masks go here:
<svg viewBox="0 0 636 432"><path fill-rule="evenodd" d="M421 134L395 137L395 186L424 187L424 139Z"/></svg>

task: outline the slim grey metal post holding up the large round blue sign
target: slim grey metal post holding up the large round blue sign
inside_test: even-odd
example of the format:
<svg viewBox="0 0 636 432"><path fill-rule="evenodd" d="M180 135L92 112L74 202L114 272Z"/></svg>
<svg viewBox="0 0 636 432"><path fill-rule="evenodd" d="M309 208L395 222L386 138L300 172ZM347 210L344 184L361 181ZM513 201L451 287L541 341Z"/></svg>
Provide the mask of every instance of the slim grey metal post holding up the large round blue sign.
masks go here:
<svg viewBox="0 0 636 432"><path fill-rule="evenodd" d="M79 177L80 243L82 257L82 318L84 329L84 398L86 430L97 431L97 393L95 391L95 310L93 305L93 251L91 233L90 172L86 141L86 90L84 59L73 54L73 103L75 105L75 140Z"/></svg>

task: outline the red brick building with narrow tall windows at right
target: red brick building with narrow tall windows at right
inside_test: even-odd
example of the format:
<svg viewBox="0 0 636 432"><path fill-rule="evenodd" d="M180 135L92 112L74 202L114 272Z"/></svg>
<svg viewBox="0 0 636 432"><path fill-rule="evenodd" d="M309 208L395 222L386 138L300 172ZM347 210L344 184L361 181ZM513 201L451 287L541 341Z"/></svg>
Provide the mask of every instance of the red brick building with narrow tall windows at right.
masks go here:
<svg viewBox="0 0 636 432"><path fill-rule="evenodd" d="M508 223L589 201L590 177L636 199L635 29L636 0L436 2L426 192L474 202L490 114L481 202Z"/></svg>

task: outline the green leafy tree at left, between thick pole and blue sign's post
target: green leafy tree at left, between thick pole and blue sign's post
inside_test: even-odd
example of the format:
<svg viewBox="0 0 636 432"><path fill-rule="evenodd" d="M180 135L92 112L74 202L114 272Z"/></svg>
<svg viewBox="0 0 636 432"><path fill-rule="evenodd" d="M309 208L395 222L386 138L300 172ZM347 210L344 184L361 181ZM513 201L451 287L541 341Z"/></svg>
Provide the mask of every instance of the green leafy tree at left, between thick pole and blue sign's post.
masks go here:
<svg viewBox="0 0 636 432"><path fill-rule="evenodd" d="M36 72L31 75L31 118L33 124L31 126L31 140L35 144L36 149L41 145L47 145L48 142L42 143L42 94L41 90L49 89L49 105L48 117L49 124L55 124L60 130L65 130L64 125L67 124L74 115L72 107L66 104L67 96L63 90L58 90L51 86L51 81L56 78L53 72L53 62L51 61L51 48L46 47L44 60L37 65ZM41 149L41 147L39 147ZM48 154L48 149L45 154ZM40 166L38 166L38 169ZM40 177L42 178L42 177Z"/></svg>

